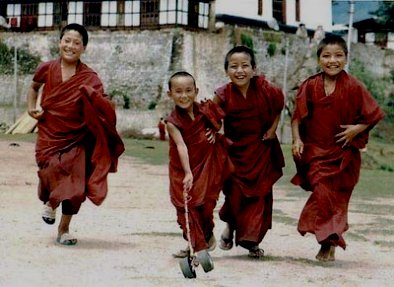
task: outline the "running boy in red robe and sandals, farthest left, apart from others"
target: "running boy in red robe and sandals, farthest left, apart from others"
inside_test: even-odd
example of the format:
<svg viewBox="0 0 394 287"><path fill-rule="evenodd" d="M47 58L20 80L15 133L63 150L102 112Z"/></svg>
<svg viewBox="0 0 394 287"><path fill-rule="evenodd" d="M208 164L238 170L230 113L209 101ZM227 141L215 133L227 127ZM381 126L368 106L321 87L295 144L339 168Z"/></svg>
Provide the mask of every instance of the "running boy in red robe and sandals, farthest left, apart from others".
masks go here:
<svg viewBox="0 0 394 287"><path fill-rule="evenodd" d="M27 95L28 113L38 120L36 161L42 217L53 224L56 208L62 205L57 242L63 245L77 243L69 232L72 216L86 197L96 205L103 202L107 174L116 171L124 151L115 129L114 106L104 95L97 74L80 60L87 43L83 26L65 26L60 34L60 57L37 67Z"/></svg>

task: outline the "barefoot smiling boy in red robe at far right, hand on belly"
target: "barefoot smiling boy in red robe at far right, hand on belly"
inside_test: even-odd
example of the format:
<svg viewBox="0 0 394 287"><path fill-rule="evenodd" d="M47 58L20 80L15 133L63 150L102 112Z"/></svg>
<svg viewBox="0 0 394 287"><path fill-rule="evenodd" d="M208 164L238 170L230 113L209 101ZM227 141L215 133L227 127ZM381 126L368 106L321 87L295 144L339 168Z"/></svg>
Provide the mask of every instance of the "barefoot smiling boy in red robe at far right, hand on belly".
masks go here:
<svg viewBox="0 0 394 287"><path fill-rule="evenodd" d="M292 183L312 191L298 231L316 236L319 261L334 261L335 247L346 247L348 205L360 174L360 149L384 116L364 86L344 71L346 42L327 36L317 49L322 72L305 80L292 118Z"/></svg>

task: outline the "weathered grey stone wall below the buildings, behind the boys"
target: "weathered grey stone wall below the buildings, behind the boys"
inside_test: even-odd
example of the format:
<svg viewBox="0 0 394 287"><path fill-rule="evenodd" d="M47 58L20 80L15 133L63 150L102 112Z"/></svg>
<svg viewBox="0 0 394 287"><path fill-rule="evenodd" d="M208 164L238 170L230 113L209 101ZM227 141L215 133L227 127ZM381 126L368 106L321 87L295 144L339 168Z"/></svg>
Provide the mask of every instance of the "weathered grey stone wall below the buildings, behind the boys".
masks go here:
<svg viewBox="0 0 394 287"><path fill-rule="evenodd" d="M280 87L286 84L289 97L303 79L317 71L313 49L310 50L308 44L295 35L282 32L225 26L213 33L163 29L94 31L89 34L89 44L82 60L98 72L108 93L113 94L115 91L118 95L130 98L131 109L122 112L122 116L139 116L141 111L148 111L148 108L156 105L153 112L150 110L147 113L155 115L155 119L146 121L146 116L141 118L147 125L152 125L170 111L172 103L166 96L167 81L175 71L191 72L200 88L199 99L211 98L215 88L228 81L223 68L226 52L234 44L240 44L245 35L253 42L258 73L264 73ZM3 33L0 37L9 46L16 44L28 47L32 53L39 54L43 61L57 56L58 32ZM364 61L377 75L387 75L394 66L392 51L362 44L353 46L352 59ZM27 75L18 79L18 113L22 113L26 107L26 93L31 78L32 75ZM13 76L0 75L0 121L7 124L12 123L10 114L13 113L1 113L1 110L13 106L14 91ZM117 100L121 108L122 99Z"/></svg>

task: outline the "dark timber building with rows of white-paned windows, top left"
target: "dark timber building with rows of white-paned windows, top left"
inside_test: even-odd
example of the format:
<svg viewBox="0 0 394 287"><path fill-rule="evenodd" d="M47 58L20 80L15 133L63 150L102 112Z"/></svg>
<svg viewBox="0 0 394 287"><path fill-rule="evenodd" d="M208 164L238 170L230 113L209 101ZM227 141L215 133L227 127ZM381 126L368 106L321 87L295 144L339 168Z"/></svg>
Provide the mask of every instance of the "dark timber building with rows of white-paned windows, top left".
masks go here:
<svg viewBox="0 0 394 287"><path fill-rule="evenodd" d="M53 30L67 23L97 29L158 29L183 26L208 29L209 0L0 2L0 16L13 31Z"/></svg>

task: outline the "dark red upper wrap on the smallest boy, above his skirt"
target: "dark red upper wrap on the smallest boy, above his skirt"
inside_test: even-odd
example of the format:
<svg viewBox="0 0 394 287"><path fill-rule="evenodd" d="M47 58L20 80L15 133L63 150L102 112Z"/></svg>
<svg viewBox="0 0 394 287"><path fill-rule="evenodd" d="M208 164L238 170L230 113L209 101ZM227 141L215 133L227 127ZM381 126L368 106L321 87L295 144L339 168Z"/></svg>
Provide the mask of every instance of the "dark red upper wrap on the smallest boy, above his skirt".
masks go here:
<svg viewBox="0 0 394 287"><path fill-rule="evenodd" d="M189 206L198 206L208 199L217 200L223 182L232 171L227 148L228 142L223 135L217 134L214 144L207 140L207 128L217 132L221 126L223 111L208 100L201 104L194 103L194 120L187 112L178 107L167 118L182 134L189 154L190 168L193 174L193 187L189 191ZM169 150L170 196L177 207L184 206L183 179L185 173L179 159L175 142L170 138Z"/></svg>

